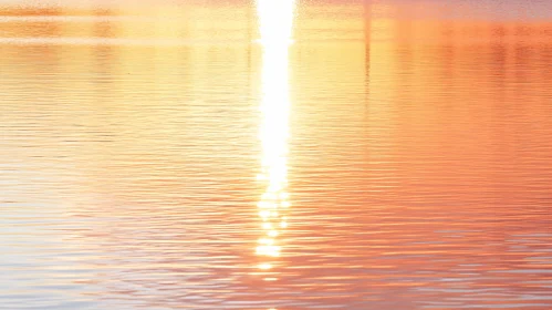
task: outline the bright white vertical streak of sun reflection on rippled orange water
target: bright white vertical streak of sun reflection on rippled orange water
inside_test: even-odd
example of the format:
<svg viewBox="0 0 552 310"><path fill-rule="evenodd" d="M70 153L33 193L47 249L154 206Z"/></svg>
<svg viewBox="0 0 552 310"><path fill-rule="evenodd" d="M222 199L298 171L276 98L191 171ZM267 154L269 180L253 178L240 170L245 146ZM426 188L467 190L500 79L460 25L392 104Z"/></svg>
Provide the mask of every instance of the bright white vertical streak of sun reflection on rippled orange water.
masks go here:
<svg viewBox="0 0 552 310"><path fill-rule="evenodd" d="M264 257L258 266L270 270L272 258L280 256L278 237L288 227L287 209L291 207L288 193L289 138L289 45L292 37L294 0L259 0L257 2L262 45L262 99L260 141L262 146L259 182L265 186L259 199L262 237L257 255ZM273 280L267 278L265 280Z"/></svg>

